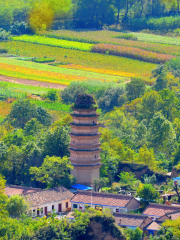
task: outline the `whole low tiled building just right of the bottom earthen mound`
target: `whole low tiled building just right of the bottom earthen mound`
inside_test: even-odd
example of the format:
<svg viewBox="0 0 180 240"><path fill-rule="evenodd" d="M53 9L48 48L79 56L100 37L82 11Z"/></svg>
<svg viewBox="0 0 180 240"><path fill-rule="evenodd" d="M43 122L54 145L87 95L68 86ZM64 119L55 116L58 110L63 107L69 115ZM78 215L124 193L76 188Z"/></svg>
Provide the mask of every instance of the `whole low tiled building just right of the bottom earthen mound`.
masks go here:
<svg viewBox="0 0 180 240"><path fill-rule="evenodd" d="M150 223L153 222L148 216L131 213L114 213L116 224L120 227L136 229L139 227L143 230Z"/></svg>

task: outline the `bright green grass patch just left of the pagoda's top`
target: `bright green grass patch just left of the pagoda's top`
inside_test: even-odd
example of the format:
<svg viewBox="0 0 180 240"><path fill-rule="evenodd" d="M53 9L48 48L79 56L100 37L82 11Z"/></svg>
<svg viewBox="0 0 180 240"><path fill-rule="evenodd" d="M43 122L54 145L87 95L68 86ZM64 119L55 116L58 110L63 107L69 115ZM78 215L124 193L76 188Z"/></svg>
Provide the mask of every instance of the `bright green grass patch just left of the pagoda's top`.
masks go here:
<svg viewBox="0 0 180 240"><path fill-rule="evenodd" d="M35 103L37 106L41 106L46 109L56 110L56 111L63 111L63 112L70 112L70 105L63 104L61 102L46 102L41 100L31 100L32 103Z"/></svg>

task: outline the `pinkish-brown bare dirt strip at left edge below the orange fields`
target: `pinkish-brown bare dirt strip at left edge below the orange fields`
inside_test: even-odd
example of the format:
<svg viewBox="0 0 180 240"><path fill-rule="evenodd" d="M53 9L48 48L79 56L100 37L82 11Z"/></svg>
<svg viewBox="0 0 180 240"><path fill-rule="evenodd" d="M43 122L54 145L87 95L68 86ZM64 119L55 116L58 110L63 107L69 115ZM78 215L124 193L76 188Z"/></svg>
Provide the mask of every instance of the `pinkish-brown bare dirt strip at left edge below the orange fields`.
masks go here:
<svg viewBox="0 0 180 240"><path fill-rule="evenodd" d="M3 75L0 75L0 81L30 85L30 86L35 86L35 87L40 86L40 87L45 87L45 88L49 87L49 88L56 88L56 89L65 89L67 87L66 85L62 85L62 84L39 82L39 81L34 81L34 80L7 77L7 76L3 76Z"/></svg>

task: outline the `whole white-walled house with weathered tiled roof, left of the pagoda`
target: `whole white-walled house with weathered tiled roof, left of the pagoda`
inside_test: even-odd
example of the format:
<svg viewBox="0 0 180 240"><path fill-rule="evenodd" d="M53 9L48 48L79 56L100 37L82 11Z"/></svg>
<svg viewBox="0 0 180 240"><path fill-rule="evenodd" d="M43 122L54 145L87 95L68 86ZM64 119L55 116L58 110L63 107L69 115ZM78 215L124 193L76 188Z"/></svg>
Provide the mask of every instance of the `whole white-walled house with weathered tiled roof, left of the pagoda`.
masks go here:
<svg viewBox="0 0 180 240"><path fill-rule="evenodd" d="M74 194L65 187L56 187L23 194L23 196L29 204L32 216L44 216L53 211L56 213L70 211L70 200Z"/></svg>

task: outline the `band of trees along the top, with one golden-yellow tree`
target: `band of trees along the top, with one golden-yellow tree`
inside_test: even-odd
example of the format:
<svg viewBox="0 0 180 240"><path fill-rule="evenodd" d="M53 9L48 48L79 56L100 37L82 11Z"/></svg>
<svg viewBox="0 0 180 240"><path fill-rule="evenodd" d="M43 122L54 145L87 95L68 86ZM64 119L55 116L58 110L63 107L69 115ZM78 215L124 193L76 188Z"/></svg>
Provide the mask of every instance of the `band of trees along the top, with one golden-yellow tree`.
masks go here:
<svg viewBox="0 0 180 240"><path fill-rule="evenodd" d="M30 23L33 30L120 26L167 31L180 27L178 15L179 0L66 0L63 4L56 0L6 0L0 7L0 28L10 30L17 21Z"/></svg>

